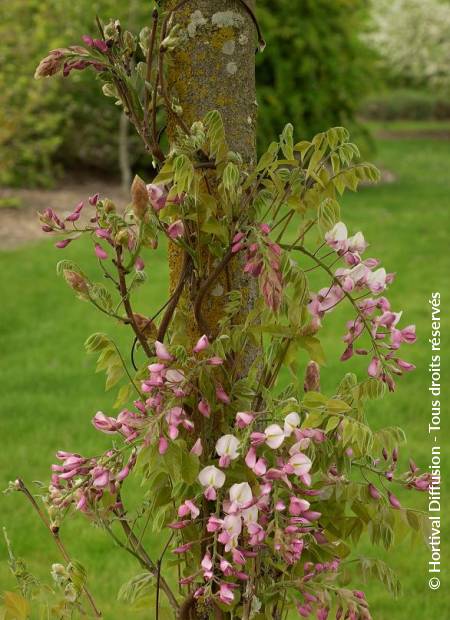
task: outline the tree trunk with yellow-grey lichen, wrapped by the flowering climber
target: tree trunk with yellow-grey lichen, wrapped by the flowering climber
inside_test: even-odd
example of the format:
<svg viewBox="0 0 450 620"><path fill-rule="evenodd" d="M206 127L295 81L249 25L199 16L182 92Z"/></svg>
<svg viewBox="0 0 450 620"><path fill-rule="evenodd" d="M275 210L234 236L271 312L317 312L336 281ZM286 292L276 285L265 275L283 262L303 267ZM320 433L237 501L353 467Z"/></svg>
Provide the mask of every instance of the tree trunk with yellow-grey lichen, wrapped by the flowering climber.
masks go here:
<svg viewBox="0 0 450 620"><path fill-rule="evenodd" d="M180 3L168 0L169 10ZM254 8L254 2L248 2ZM223 118L228 145L242 156L244 165L256 158L256 94L255 50L257 36L249 11L239 0L189 0L173 14L173 23L185 30L186 43L173 53L167 76L168 89L182 107L183 120L188 127L207 112L218 110ZM173 139L175 125L168 122L169 140ZM181 252L169 248L170 284L173 291L182 270ZM217 261L207 257L209 272ZM185 287L182 307L189 320L191 341L199 335L192 307L192 286L195 274ZM242 270L241 258L235 258L220 281L205 296L202 312L211 331L220 318L224 296L229 290L242 291L242 312L252 307L256 285ZM255 351L249 350L241 362L248 368Z"/></svg>

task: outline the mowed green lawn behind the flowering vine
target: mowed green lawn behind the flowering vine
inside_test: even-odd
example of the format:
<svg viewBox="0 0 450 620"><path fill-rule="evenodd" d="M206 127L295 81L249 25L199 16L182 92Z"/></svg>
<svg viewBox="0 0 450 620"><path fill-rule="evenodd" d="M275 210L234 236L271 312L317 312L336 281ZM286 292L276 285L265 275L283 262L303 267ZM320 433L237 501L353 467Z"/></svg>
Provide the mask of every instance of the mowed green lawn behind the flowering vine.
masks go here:
<svg viewBox="0 0 450 620"><path fill-rule="evenodd" d="M395 175L395 182L364 188L345 198L344 219L350 231L362 229L371 243L368 255L383 259L388 270L398 273L389 291L394 309L404 310L403 324L416 323L418 343L405 347L404 357L418 369L399 382L395 394L371 407L376 427L398 424L407 433L408 445L402 460L409 455L427 468L431 442L427 427L430 410L427 365L430 356L430 310L428 299L434 290L443 296L450 270L448 255L448 210L450 151L444 141L381 141L377 163ZM81 198L85 198L80 196ZM0 477L2 488L9 480L23 477L47 480L49 465L57 449L96 454L108 445L108 438L91 426L99 409L112 410L113 395L103 390L104 378L93 373L94 360L83 350L83 342L94 331L108 331L126 352L130 336L114 323L99 316L86 304L74 299L72 292L55 275L55 263L63 256L84 267L92 263L91 250L81 243L62 253L50 241L15 251L0 253L1 270L1 390ZM165 300L167 265L164 248L148 260L149 286L140 296L140 308L151 314ZM306 263L305 263L306 266ZM332 392L345 370L357 369L363 376L367 360L338 361L342 351L340 337L347 320L345 311L330 316L324 330L328 365L322 372L325 392ZM448 333L448 323L443 323ZM364 363L363 363L364 362ZM445 446L444 432L442 445ZM444 451L445 452L445 451ZM443 463L444 480L450 473ZM425 507L426 497L402 494L402 501ZM14 549L38 576L46 578L52 562L59 561L53 541L32 513L22 495L1 498L1 525L8 529ZM444 521L445 540L449 538L449 519ZM132 558L116 548L105 535L78 517L64 526L62 537L73 557L83 562L90 575L90 587L104 616L119 620L128 617L153 617L147 610L131 615L116 600L121 583L140 572ZM146 544L156 555L162 536L147 536ZM388 559L401 576L404 595L390 599L381 586L366 590L375 620L444 618L450 614L450 594L445 573L438 592L428 589L425 548L411 548L403 542L395 552L384 553L362 543L357 552ZM1 590L13 589L5 549L0 546ZM447 612L447 613L446 613Z"/></svg>

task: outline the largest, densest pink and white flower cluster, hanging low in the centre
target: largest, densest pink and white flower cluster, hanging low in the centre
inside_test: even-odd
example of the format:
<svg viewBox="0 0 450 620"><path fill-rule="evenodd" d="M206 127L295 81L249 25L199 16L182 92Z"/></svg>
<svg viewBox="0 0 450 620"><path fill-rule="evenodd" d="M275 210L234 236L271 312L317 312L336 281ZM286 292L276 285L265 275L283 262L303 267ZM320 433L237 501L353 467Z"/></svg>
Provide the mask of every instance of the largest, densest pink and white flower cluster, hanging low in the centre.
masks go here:
<svg viewBox="0 0 450 620"><path fill-rule="evenodd" d="M282 426L273 423L262 431L252 431L256 419L252 412L236 414L237 433L217 440L218 460L198 475L201 493L184 501L179 520L170 525L180 530L204 519L199 509L204 496L209 506L204 556L199 570L181 581L195 583L198 598L217 597L231 604L239 582L249 579L247 567L261 552L291 565L311 540L326 542L318 523L321 513L311 505L319 491L311 488L313 464L306 454L312 443L325 440L325 434L301 429L295 411L285 416ZM234 463L245 463L248 474L242 482L233 482L233 471L227 473ZM186 542L184 536L175 553L189 551L196 542Z"/></svg>

